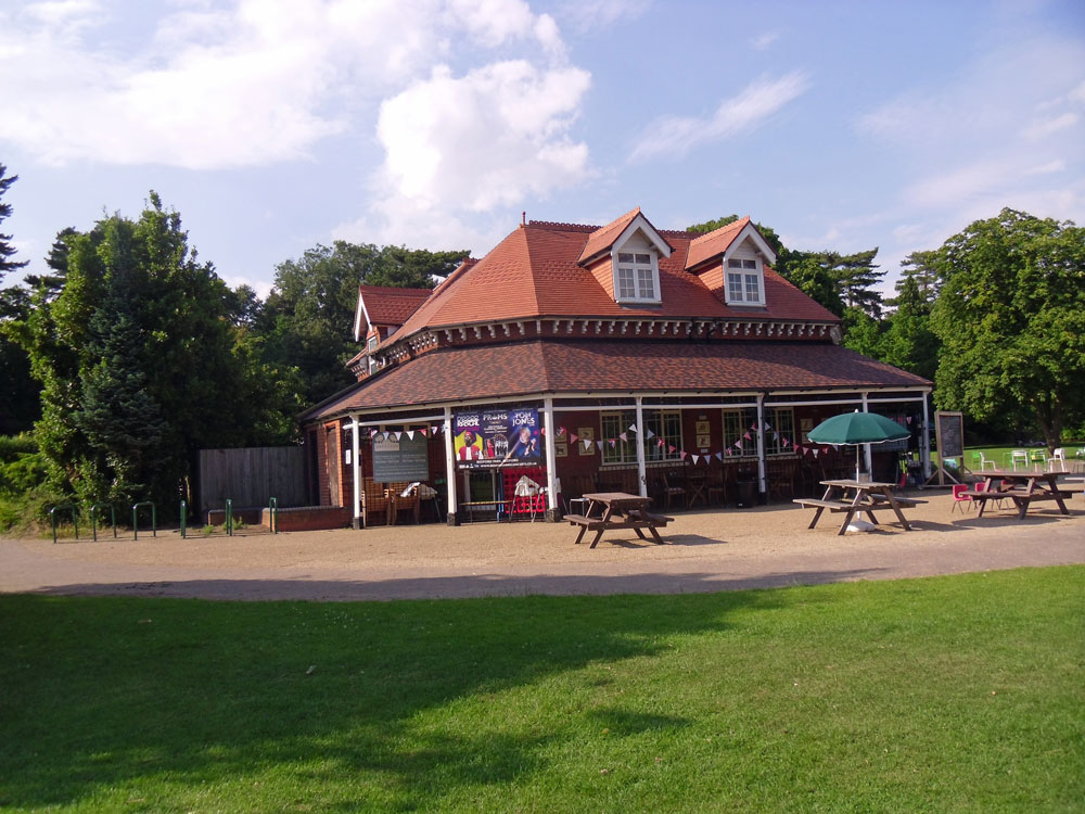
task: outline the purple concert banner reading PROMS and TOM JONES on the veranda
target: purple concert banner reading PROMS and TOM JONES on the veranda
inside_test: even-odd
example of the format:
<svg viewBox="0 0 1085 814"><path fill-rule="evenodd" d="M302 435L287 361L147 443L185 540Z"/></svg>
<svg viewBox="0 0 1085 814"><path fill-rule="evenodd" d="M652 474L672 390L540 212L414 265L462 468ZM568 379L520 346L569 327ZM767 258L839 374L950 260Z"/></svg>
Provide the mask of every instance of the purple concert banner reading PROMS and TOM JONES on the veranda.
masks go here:
<svg viewBox="0 0 1085 814"><path fill-rule="evenodd" d="M534 407L464 410L452 416L452 451L460 469L537 467L542 460Z"/></svg>

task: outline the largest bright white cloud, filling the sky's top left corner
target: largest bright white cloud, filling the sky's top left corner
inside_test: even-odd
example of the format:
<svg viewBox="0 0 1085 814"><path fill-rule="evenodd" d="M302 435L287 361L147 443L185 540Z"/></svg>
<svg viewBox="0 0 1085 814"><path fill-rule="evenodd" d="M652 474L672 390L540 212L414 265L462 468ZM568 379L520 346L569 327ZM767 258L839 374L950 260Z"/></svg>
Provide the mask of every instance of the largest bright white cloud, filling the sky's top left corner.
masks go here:
<svg viewBox="0 0 1085 814"><path fill-rule="evenodd" d="M91 36L115 23L89 0L0 12L0 142L50 164L266 165L354 128L452 42L563 54L553 21L523 0L187 5L128 51Z"/></svg>

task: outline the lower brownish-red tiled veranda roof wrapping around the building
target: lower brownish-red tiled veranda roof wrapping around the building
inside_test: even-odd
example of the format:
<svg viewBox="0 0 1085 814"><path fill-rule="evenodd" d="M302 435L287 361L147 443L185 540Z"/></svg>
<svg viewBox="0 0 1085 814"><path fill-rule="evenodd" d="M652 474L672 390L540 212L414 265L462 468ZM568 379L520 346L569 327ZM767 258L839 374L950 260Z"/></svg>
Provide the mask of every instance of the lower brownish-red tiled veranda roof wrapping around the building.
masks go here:
<svg viewBox="0 0 1085 814"><path fill-rule="evenodd" d="M917 385L930 382L828 343L533 340L423 354L359 383L304 418L537 393Z"/></svg>

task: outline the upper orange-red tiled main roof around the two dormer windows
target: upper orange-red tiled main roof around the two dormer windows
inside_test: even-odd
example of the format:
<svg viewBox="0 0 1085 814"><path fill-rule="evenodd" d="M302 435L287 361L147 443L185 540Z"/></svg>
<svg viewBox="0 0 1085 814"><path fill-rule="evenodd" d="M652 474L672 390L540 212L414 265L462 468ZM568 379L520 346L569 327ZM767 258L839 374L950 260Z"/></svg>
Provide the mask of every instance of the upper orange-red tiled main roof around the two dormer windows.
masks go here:
<svg viewBox="0 0 1085 814"><path fill-rule="evenodd" d="M631 220L629 216L637 213L634 209L614 222ZM728 306L720 287L710 289L698 275L686 271L687 252L694 240L688 232L663 232L673 252L671 257L660 257L661 305L618 305L591 271L578 265L588 240L598 233L534 221L518 228L481 260L442 283L392 341L424 328L536 317L840 321L770 269L765 270L767 307Z"/></svg>

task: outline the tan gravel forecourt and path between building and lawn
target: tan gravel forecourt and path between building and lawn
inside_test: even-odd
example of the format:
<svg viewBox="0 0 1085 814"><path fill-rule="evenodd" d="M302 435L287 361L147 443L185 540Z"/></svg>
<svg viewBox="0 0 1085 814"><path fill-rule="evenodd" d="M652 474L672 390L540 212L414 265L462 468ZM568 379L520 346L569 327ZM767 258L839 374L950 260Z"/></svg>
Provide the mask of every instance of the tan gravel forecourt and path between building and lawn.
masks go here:
<svg viewBox="0 0 1085 814"><path fill-rule="evenodd" d="M573 545L566 523L475 523L296 532L232 538L177 532L113 540L0 539L0 593L360 600L524 594L666 594L1085 563L1085 500L1019 521L1009 510L950 512L927 493L906 511L914 531L879 512L876 531L837 536L839 514L812 510L689 511L663 546L631 532ZM587 535L590 539L590 535Z"/></svg>

